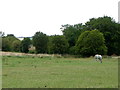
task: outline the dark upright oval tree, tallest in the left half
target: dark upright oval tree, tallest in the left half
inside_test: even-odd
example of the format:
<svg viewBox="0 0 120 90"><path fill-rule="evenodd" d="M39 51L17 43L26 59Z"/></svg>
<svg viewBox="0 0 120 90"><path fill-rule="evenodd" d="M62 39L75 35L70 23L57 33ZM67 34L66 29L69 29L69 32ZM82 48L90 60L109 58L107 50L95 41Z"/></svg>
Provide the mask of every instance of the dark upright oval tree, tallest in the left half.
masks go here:
<svg viewBox="0 0 120 90"><path fill-rule="evenodd" d="M36 32L33 36L33 45L36 53L47 53L48 36L42 32Z"/></svg>

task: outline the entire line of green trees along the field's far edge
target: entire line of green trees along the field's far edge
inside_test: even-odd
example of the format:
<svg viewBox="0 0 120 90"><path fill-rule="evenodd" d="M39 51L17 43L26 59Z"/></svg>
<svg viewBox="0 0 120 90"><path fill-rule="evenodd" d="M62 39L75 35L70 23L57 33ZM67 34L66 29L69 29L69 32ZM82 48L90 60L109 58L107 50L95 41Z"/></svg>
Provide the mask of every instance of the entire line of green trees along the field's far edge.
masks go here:
<svg viewBox="0 0 120 90"><path fill-rule="evenodd" d="M96 53L102 55L120 55L120 24L108 16L91 18L84 25L62 25L63 35L48 36L43 32L36 32L32 40L24 38L22 41L13 34L2 36L2 51L24 53L71 54L91 56ZM29 50L30 46L35 50Z"/></svg>

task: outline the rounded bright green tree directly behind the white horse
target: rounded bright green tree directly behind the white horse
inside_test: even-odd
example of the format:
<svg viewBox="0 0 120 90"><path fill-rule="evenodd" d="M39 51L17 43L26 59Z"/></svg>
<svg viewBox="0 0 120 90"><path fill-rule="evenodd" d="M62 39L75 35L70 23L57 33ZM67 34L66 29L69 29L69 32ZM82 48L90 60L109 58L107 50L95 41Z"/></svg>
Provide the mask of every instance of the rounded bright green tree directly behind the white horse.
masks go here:
<svg viewBox="0 0 120 90"><path fill-rule="evenodd" d="M83 32L76 43L76 53L82 56L106 54L107 47L103 34L98 30Z"/></svg>

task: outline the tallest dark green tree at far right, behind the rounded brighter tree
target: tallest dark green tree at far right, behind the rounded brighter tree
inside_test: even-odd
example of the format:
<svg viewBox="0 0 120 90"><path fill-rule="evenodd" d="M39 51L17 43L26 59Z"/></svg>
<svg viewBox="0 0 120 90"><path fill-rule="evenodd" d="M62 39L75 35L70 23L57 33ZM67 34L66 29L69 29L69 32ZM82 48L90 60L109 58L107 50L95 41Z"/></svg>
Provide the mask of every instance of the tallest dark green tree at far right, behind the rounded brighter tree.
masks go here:
<svg viewBox="0 0 120 90"><path fill-rule="evenodd" d="M90 21L86 22L85 29L98 29L103 33L106 46L108 47L108 55L120 54L120 27L113 18L108 16L92 18Z"/></svg>

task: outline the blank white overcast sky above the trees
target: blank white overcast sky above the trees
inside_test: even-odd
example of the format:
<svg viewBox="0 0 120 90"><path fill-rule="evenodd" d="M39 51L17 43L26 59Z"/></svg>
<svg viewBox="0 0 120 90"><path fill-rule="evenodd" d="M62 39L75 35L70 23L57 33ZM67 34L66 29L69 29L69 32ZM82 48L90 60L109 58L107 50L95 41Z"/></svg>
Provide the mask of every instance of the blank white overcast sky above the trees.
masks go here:
<svg viewBox="0 0 120 90"><path fill-rule="evenodd" d="M0 0L0 31L16 37L62 34L64 24L110 16L118 22L119 0Z"/></svg>

